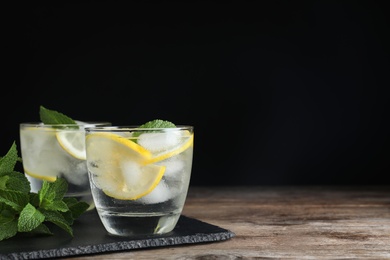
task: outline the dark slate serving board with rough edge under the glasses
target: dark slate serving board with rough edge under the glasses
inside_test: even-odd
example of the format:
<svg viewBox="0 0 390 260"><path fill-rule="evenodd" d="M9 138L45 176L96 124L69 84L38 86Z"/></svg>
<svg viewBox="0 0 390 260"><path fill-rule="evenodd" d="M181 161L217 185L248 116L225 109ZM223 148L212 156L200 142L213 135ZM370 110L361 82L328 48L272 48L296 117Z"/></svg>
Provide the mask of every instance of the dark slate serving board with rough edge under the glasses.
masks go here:
<svg viewBox="0 0 390 260"><path fill-rule="evenodd" d="M209 223L181 216L176 228L164 235L116 237L109 235L95 210L84 213L73 225L74 237L51 227L53 236L16 236L0 241L0 259L42 259L216 242L235 234Z"/></svg>

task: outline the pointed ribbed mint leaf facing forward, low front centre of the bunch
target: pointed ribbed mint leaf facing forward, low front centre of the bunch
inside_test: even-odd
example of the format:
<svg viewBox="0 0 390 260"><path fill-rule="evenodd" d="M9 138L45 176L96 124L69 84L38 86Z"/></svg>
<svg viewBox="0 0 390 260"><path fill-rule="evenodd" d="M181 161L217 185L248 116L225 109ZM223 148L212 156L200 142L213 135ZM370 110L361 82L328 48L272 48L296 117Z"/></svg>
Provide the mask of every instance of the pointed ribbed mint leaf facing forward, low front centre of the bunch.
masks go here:
<svg viewBox="0 0 390 260"><path fill-rule="evenodd" d="M33 205L28 203L22 212L20 212L18 220L18 232L32 231L37 228L44 220L45 216Z"/></svg>

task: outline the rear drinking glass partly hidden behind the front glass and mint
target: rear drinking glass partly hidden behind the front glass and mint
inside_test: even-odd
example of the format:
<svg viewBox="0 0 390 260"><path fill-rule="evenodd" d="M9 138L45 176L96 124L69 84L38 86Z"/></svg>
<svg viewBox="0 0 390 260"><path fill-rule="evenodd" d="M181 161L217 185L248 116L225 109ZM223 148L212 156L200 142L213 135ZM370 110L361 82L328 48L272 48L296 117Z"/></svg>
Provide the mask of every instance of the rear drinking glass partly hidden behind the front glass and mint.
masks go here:
<svg viewBox="0 0 390 260"><path fill-rule="evenodd" d="M20 147L23 168L31 191L38 192L43 180L62 177L68 182L66 197L75 197L94 208L85 154L85 127L109 126L109 122L72 124L21 123Z"/></svg>

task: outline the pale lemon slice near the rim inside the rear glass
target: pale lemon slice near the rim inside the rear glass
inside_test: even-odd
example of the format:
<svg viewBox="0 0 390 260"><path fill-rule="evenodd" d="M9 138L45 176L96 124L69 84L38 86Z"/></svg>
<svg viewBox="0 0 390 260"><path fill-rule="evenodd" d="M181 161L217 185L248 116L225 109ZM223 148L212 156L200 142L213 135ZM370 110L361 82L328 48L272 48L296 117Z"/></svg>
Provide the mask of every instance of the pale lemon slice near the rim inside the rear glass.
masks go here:
<svg viewBox="0 0 390 260"><path fill-rule="evenodd" d="M73 157L86 160L84 131L60 130L56 133L60 146Z"/></svg>

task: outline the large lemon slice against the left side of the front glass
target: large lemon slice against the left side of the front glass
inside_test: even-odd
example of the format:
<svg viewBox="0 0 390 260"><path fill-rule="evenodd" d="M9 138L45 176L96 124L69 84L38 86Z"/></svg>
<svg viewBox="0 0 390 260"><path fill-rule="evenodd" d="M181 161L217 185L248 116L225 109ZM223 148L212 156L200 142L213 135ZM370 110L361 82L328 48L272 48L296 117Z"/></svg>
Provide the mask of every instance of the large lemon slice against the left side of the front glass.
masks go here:
<svg viewBox="0 0 390 260"><path fill-rule="evenodd" d="M94 184L110 197L136 200L161 181L165 166L145 165L152 154L142 146L112 133L87 136L88 169Z"/></svg>

